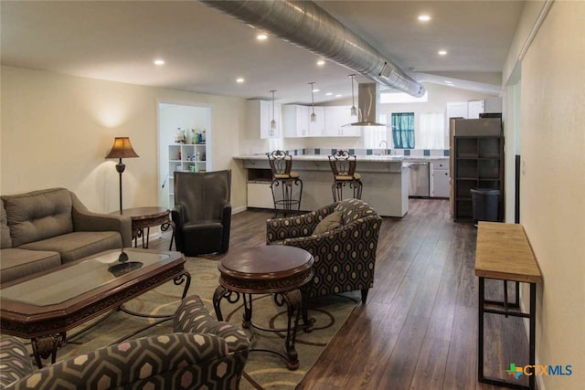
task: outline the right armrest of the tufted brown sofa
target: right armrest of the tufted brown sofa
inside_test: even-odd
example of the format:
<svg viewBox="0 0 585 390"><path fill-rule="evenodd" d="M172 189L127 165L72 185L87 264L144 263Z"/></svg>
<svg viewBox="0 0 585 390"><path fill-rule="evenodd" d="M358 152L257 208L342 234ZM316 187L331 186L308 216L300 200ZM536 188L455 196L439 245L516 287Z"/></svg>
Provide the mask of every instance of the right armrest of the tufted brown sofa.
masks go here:
<svg viewBox="0 0 585 390"><path fill-rule="evenodd" d="M122 236L122 247L132 247L132 219L129 216L93 213L72 192L71 216L74 231L115 231Z"/></svg>

